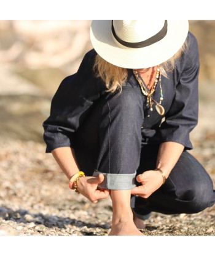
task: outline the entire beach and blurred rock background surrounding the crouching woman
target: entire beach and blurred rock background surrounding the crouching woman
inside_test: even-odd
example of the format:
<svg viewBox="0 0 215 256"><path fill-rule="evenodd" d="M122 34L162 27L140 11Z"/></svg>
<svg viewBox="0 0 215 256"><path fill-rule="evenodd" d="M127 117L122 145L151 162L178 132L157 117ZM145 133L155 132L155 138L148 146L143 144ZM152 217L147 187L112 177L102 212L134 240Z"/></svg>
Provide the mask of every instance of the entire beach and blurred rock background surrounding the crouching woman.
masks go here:
<svg viewBox="0 0 215 256"><path fill-rule="evenodd" d="M45 154L45 144L42 139L42 122L49 116L53 94L65 76L77 71L84 54L92 49L89 38L90 22L90 20L0 20L0 230L2 234L107 233L106 230L101 232L101 229L98 232L92 231L85 225L98 221L101 225L106 225L105 223L111 220L111 206L107 206L108 203L111 205L109 200L105 208L103 201L92 205L81 195L77 197L70 191L68 193L68 181L52 155ZM205 166L213 180L215 174L214 30L215 20L190 20L190 31L198 39L201 64L199 123L191 134L194 146L191 153ZM80 200L84 207L80 204ZM186 219L184 215L183 219L180 217L178 220L178 225L181 225L180 230L185 232L184 227L187 224L183 220L189 220L194 224L190 224L193 226L193 231L187 234L195 234L197 231L196 234L215 234L215 227L211 226L214 222L210 222L214 220L214 207L208 211L192 219ZM98 213L103 214L103 218L98 218ZM53 214L56 215L55 221ZM31 215L31 220L26 215ZM156 218L152 219L152 222ZM199 225L198 221L201 218L203 222ZM78 220L84 222L80 223ZM171 219L165 217L162 223L165 220L168 223L166 234L173 234L168 229L170 226L168 221ZM62 228L63 223L70 223L70 226L65 224L68 228ZM175 226L175 223L172 225ZM89 227L92 228L92 225ZM176 234L185 234L180 233L182 231ZM160 231L155 230L153 234L164 234L164 231L161 228Z"/></svg>

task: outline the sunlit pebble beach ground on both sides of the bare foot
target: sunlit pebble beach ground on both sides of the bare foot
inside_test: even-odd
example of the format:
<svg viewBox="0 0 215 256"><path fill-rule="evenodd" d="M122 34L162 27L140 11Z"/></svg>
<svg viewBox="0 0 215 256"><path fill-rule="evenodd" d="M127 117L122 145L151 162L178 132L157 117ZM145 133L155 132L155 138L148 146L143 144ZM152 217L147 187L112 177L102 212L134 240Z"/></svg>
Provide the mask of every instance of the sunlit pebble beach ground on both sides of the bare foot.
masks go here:
<svg viewBox="0 0 215 256"><path fill-rule="evenodd" d="M12 236L106 236L111 200L92 204L68 181L44 144L1 139L0 234ZM214 174L212 175L214 178ZM149 236L214 236L215 206L193 215L152 213Z"/></svg>

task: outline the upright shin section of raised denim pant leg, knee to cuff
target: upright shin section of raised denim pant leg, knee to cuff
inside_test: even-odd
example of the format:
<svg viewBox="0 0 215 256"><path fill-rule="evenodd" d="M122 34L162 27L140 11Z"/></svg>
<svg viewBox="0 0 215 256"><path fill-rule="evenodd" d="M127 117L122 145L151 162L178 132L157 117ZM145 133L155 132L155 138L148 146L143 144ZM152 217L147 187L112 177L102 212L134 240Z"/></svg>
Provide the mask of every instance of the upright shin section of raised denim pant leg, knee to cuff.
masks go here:
<svg viewBox="0 0 215 256"><path fill-rule="evenodd" d="M103 173L101 188L131 189L141 152L143 97L139 88L124 86L108 94L100 123L100 152L93 176Z"/></svg>

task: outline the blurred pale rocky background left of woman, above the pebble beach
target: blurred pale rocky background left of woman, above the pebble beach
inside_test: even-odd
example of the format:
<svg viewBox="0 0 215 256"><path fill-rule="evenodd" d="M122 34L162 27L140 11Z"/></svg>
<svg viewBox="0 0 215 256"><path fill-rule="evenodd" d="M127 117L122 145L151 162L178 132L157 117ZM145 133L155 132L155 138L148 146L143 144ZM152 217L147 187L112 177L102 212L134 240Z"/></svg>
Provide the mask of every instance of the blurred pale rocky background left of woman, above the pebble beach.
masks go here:
<svg viewBox="0 0 215 256"><path fill-rule="evenodd" d="M42 140L42 121L65 76L91 49L89 20L0 21L1 136Z"/></svg>

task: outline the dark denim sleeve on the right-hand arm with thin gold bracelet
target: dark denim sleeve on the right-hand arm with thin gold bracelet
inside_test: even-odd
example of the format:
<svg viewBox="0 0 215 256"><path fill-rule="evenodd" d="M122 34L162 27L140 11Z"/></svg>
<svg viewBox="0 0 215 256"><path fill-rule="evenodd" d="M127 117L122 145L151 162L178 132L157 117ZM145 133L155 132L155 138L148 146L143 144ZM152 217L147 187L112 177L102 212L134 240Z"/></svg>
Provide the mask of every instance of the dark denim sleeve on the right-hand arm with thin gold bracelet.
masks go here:
<svg viewBox="0 0 215 256"><path fill-rule="evenodd" d="M189 49L184 54L181 76L176 86L173 102L160 127L161 142L178 142L192 149L190 131L198 122L198 45L194 36L189 39Z"/></svg>

